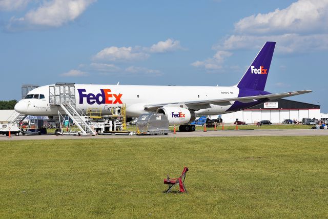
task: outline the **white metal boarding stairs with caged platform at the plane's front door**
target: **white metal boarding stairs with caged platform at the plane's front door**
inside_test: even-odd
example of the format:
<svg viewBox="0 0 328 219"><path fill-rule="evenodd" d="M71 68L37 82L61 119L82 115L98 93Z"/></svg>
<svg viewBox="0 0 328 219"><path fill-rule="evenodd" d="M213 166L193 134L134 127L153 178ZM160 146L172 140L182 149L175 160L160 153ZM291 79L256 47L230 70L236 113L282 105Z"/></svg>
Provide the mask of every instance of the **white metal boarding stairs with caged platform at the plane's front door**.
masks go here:
<svg viewBox="0 0 328 219"><path fill-rule="evenodd" d="M56 83L54 86L49 86L49 104L50 106L58 107L58 116L60 115L60 110L64 110L80 129L81 132L79 134L96 134L95 130L89 125L90 120L86 114L76 108L75 86L73 83Z"/></svg>

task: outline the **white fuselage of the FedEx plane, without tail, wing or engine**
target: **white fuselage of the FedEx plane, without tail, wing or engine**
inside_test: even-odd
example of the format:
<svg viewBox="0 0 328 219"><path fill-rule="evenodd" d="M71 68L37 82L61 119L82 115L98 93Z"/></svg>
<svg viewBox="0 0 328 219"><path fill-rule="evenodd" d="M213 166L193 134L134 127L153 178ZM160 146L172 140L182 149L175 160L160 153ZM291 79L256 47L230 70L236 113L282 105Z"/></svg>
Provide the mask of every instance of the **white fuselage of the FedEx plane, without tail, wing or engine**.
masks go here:
<svg viewBox="0 0 328 219"><path fill-rule="evenodd" d="M22 99L15 106L15 110L27 115L58 115L59 106L51 106L49 103L49 86L51 85L38 87L28 93L43 94L44 98ZM83 89L85 89L85 91ZM103 92L101 89L103 89ZM104 93L106 93L106 101L103 100ZM142 113L151 112L150 110L145 110L145 105L148 104L234 98L238 96L238 93L239 88L237 87L75 84L76 108L83 110L84 113L87 113L88 109L93 108L100 109L103 115L111 114L112 107L126 104L126 113L128 117L135 117ZM232 104L233 102L230 105L222 106L210 104L208 108L199 109L195 112L198 115L227 113ZM179 107L181 105L171 104L167 106Z"/></svg>

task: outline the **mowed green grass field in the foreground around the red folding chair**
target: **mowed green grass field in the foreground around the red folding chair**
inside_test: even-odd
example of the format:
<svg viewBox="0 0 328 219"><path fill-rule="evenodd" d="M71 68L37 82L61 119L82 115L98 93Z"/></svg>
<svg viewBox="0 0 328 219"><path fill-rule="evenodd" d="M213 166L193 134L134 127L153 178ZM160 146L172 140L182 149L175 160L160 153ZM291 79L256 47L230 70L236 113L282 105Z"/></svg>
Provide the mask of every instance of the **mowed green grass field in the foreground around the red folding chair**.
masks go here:
<svg viewBox="0 0 328 219"><path fill-rule="evenodd" d="M327 140L3 141L0 217L328 217ZM163 194L183 166L189 193Z"/></svg>

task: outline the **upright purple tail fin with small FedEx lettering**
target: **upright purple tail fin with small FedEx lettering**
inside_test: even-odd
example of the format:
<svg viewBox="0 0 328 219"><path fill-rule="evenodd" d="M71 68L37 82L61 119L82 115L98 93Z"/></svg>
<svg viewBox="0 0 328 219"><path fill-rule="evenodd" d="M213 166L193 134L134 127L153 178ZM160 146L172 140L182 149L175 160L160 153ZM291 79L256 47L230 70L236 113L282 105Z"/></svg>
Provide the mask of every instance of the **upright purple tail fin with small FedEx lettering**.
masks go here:
<svg viewBox="0 0 328 219"><path fill-rule="evenodd" d="M267 42L238 83L238 88L264 90L269 74L275 42Z"/></svg>

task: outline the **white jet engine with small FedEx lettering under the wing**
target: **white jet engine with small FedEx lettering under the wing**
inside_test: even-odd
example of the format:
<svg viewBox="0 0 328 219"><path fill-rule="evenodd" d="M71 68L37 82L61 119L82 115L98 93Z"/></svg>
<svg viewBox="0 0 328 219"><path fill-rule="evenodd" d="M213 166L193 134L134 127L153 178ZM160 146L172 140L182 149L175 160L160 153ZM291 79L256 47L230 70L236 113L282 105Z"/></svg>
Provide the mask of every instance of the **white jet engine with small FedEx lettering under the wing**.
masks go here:
<svg viewBox="0 0 328 219"><path fill-rule="evenodd" d="M156 112L165 114L168 117L170 125L182 125L196 120L195 111L186 108L161 107Z"/></svg>

